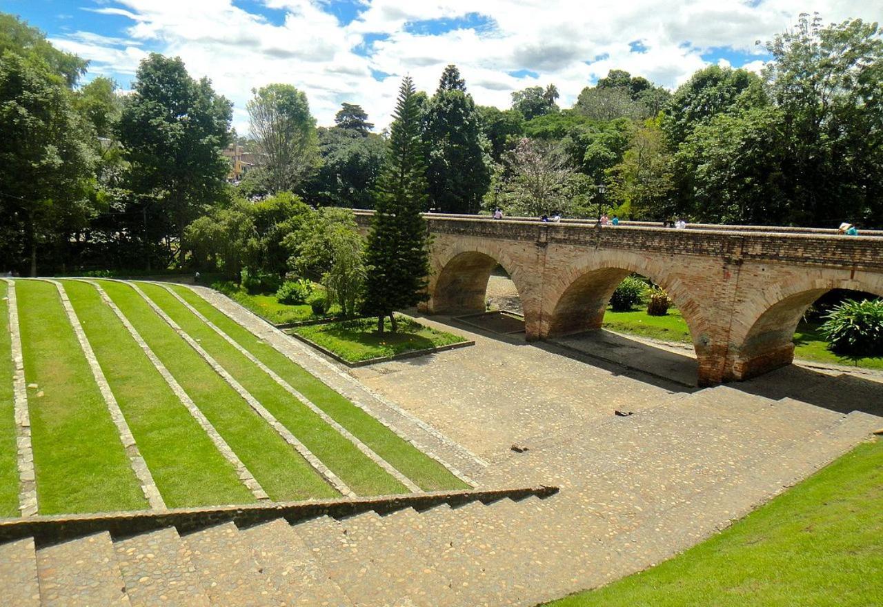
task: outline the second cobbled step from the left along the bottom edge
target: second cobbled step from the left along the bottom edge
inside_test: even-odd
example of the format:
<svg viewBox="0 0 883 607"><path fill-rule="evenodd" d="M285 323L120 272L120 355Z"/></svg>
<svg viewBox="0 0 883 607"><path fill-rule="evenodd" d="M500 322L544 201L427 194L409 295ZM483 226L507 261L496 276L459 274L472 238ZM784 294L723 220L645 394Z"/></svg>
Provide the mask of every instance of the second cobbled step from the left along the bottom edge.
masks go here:
<svg viewBox="0 0 883 607"><path fill-rule="evenodd" d="M130 605L106 531L37 551L43 607Z"/></svg>

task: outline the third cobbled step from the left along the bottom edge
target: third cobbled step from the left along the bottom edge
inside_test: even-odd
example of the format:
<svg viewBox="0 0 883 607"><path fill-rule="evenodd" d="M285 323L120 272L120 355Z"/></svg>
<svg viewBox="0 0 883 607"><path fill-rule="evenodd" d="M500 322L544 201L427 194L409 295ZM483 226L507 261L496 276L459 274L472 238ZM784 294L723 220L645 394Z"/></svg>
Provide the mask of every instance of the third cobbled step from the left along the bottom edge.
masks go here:
<svg viewBox="0 0 883 607"><path fill-rule="evenodd" d="M208 595L174 527L114 543L132 607L208 607Z"/></svg>

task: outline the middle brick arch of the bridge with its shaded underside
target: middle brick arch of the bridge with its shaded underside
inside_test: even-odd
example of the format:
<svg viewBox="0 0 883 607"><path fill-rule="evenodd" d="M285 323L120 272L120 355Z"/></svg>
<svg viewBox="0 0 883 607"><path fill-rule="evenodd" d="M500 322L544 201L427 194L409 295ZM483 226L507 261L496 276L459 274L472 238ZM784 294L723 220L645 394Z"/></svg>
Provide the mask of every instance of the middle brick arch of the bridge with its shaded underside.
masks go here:
<svg viewBox="0 0 883 607"><path fill-rule="evenodd" d="M559 273L555 281L558 288L544 296L543 333L554 337L599 328L610 296L631 273L646 276L665 289L690 328L701 364L710 339L705 314L683 281L684 277L675 274L669 261L625 251L600 251L584 264L570 266Z"/></svg>

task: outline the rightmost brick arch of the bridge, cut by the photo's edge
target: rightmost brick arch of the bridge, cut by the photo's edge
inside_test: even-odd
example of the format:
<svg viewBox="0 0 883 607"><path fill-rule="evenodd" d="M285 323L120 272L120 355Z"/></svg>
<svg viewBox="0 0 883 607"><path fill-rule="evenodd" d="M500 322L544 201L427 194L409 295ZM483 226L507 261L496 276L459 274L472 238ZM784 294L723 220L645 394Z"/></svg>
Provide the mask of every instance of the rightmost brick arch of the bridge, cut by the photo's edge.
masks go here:
<svg viewBox="0 0 883 607"><path fill-rule="evenodd" d="M789 276L758 291L736 311L730 332L726 379L747 379L794 360L794 333L810 305L831 289L867 291L883 297L883 276L842 270Z"/></svg>

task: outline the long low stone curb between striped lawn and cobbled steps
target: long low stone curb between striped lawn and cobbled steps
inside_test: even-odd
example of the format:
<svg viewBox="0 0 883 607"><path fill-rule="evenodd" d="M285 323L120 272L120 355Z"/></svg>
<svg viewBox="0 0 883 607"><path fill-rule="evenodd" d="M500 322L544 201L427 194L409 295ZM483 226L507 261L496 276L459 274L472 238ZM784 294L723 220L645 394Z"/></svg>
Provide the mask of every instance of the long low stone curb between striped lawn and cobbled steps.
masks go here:
<svg viewBox="0 0 883 607"><path fill-rule="evenodd" d="M102 531L108 531L111 536L120 537L167 527L175 527L179 533L185 534L230 521L239 527L249 527L278 518L296 523L323 515L343 518L368 511L383 514L402 508L426 510L440 504L462 506L474 501L487 504L503 498L522 499L531 496L547 498L557 492L557 487L539 485L509 489L431 491L371 498L336 498L247 506L173 508L163 512L140 510L117 513L59 514L35 516L28 519L0 519L0 542L8 542L22 537L34 537L38 543L45 544Z"/></svg>

